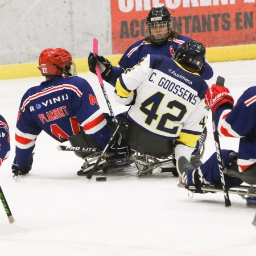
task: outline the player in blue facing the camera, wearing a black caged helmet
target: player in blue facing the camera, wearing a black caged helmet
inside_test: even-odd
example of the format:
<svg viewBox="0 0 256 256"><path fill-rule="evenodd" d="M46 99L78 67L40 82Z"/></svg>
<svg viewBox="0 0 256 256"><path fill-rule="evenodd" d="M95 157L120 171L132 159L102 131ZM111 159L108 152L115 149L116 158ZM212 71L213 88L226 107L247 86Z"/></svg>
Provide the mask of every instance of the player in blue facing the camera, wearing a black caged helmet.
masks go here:
<svg viewBox="0 0 256 256"><path fill-rule="evenodd" d="M172 58L176 49L185 41L191 40L172 30L172 15L166 7L153 7L147 16L148 36L131 45L119 60L118 67L112 67L103 56L90 53L88 64L91 72L96 74L95 66L100 63L102 79L113 86L115 81L127 68L133 68L147 54L156 54ZM96 59L97 57L97 59ZM213 70L207 61L197 71L205 80L213 76Z"/></svg>

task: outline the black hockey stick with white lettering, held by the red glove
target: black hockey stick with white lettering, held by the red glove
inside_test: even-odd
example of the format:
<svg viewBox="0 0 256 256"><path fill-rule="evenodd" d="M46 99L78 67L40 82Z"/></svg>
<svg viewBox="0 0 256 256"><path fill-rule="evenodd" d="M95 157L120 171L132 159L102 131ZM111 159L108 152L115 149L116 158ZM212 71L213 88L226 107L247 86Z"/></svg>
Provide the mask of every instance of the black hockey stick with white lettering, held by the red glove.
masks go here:
<svg viewBox="0 0 256 256"><path fill-rule="evenodd" d="M225 79L224 77L218 76L216 80L216 85L224 86ZM229 200L229 193L228 189L226 188L226 181L224 177L224 164L222 160L222 154L221 154L221 147L220 147L220 139L218 138L218 131L217 127L215 126L215 114L212 112L212 129L213 129L213 137L215 141L215 147L216 147L216 153L217 153L217 159L218 159L218 168L220 170L220 176L221 176L221 185L224 193L224 199L225 199L225 207L231 207L231 203Z"/></svg>

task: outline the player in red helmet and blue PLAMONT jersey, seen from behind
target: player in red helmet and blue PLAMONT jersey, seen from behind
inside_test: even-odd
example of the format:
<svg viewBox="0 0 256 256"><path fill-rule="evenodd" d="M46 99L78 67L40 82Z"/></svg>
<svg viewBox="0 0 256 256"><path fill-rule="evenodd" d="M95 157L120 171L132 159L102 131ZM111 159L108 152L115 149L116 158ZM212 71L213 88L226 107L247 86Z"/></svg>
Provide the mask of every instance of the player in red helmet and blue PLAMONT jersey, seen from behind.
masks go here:
<svg viewBox="0 0 256 256"><path fill-rule="evenodd" d="M16 176L31 170L32 151L42 130L59 142L75 138L74 135L82 132L92 137L102 149L112 137L92 87L88 81L76 76L75 64L67 50L44 49L39 56L39 69L46 81L28 89L20 102L12 166ZM130 154L120 133L109 148L114 152L114 159Z"/></svg>

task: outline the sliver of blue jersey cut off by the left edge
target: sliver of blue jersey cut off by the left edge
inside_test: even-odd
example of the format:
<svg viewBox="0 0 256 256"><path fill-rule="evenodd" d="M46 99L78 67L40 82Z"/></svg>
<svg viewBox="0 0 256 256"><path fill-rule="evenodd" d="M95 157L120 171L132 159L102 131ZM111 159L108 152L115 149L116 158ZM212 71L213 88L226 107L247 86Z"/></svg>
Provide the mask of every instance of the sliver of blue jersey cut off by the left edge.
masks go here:
<svg viewBox="0 0 256 256"><path fill-rule="evenodd" d="M0 115L0 166L8 158L10 149L9 126L5 118Z"/></svg>

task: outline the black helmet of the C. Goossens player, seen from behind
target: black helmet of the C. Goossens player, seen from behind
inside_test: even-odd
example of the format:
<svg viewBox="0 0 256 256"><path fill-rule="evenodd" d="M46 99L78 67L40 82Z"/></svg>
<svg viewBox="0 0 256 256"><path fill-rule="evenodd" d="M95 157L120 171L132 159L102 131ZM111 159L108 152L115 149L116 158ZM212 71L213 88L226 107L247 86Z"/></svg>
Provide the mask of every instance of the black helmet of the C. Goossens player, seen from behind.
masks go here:
<svg viewBox="0 0 256 256"><path fill-rule="evenodd" d="M189 40L177 48L173 59L181 65L192 67L195 69L193 72L198 72L204 65L205 47L195 40Z"/></svg>

